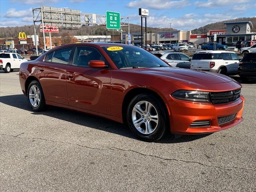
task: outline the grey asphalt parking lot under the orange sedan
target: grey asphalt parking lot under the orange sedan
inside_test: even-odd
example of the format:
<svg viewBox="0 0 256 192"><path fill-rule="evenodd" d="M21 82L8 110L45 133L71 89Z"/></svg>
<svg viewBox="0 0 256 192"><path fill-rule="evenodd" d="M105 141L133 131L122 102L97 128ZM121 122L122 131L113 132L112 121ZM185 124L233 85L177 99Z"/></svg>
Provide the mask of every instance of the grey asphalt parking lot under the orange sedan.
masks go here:
<svg viewBox="0 0 256 192"><path fill-rule="evenodd" d="M237 126L153 143L104 118L56 107L32 112L18 70L1 71L0 85L1 191L256 190L255 82L242 84Z"/></svg>

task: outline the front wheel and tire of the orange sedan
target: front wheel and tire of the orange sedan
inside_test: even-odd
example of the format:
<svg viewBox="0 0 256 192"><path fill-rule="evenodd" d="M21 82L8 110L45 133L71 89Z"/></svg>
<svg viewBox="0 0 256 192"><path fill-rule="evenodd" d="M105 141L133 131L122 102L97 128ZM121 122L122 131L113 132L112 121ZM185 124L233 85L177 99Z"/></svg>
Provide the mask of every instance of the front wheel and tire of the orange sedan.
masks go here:
<svg viewBox="0 0 256 192"><path fill-rule="evenodd" d="M151 104L148 105L149 110L146 110L146 104ZM136 109L135 106L137 106ZM128 105L126 118L131 132L137 138L147 142L162 138L166 131L166 122L168 122L164 106L159 99L150 94L135 96Z"/></svg>

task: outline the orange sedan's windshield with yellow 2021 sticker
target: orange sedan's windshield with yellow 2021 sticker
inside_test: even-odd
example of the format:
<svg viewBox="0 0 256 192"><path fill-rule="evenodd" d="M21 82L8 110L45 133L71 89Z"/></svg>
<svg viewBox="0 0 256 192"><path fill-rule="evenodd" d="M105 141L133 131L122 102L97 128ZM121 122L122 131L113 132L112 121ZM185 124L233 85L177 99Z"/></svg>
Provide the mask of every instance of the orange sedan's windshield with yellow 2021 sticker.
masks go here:
<svg viewBox="0 0 256 192"><path fill-rule="evenodd" d="M170 67L150 52L135 46L103 46L117 68Z"/></svg>

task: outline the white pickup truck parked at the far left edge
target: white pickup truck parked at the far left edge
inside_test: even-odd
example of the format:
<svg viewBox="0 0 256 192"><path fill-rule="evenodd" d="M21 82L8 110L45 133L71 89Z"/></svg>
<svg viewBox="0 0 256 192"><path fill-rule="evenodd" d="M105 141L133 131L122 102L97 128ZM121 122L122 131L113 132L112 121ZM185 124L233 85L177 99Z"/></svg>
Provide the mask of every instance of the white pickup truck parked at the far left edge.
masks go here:
<svg viewBox="0 0 256 192"><path fill-rule="evenodd" d="M20 64L28 61L16 53L1 53L0 54L0 70L6 73L12 72L14 69L20 69Z"/></svg>

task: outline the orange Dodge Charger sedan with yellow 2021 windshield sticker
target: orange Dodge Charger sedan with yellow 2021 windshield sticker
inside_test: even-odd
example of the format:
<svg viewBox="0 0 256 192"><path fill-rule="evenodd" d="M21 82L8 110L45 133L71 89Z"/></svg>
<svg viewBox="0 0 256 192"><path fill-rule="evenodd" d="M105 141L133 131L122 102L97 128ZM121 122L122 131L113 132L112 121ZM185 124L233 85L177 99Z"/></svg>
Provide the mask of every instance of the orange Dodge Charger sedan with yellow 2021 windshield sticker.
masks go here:
<svg viewBox="0 0 256 192"><path fill-rule="evenodd" d="M67 44L20 66L34 111L59 106L125 123L146 141L204 134L240 123L241 85L222 74L173 68L142 48Z"/></svg>

